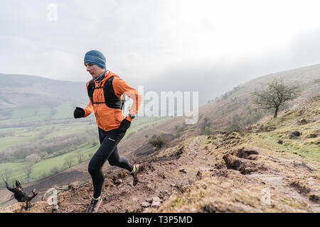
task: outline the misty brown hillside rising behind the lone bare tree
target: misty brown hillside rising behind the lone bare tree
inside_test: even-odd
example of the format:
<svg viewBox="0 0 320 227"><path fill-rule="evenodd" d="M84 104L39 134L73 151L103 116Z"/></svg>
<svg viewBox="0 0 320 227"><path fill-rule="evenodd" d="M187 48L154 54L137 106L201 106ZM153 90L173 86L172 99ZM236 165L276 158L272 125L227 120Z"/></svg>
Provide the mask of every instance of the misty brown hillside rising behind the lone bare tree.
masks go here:
<svg viewBox="0 0 320 227"><path fill-rule="evenodd" d="M166 118L156 126L142 130L132 135L122 145L127 147L127 154L132 159L135 158L135 151L142 150L148 139L146 136L161 135L161 133L172 135L167 146L175 146L195 135L213 135L219 132L238 131L247 125L257 123L257 121L272 118L274 110L257 109L251 102L251 93L267 87L267 83L273 79L282 78L284 84L299 84L302 90L301 95L293 101L287 101L279 109L279 114L290 107L302 103L311 96L319 94L320 65L311 65L295 70L287 70L274 74L267 74L257 77L249 82L240 84L238 87L225 92L219 98L216 97L208 104L200 106L198 109L198 122L187 125L186 116ZM192 106L192 105L191 105Z"/></svg>

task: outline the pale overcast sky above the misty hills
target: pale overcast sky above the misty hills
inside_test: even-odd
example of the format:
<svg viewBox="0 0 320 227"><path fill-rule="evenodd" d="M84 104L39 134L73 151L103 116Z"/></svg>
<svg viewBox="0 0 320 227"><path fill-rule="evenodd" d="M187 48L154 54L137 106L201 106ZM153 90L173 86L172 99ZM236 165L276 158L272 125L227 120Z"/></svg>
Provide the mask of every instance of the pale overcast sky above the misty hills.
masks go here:
<svg viewBox="0 0 320 227"><path fill-rule="evenodd" d="M85 52L100 50L132 87L198 91L203 104L255 77L320 63L319 6L319 0L1 1L0 73L87 82Z"/></svg>

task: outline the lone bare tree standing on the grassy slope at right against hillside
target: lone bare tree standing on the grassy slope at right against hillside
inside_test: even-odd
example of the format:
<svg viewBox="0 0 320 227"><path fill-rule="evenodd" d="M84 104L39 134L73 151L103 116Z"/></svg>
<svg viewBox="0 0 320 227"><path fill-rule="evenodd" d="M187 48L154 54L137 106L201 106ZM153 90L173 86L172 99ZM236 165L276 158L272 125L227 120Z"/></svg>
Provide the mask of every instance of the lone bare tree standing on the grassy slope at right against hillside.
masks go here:
<svg viewBox="0 0 320 227"><path fill-rule="evenodd" d="M279 107L285 101L296 99L300 94L298 85L285 85L283 79L273 79L262 92L252 92L252 103L261 109L275 109L273 118L277 117Z"/></svg>

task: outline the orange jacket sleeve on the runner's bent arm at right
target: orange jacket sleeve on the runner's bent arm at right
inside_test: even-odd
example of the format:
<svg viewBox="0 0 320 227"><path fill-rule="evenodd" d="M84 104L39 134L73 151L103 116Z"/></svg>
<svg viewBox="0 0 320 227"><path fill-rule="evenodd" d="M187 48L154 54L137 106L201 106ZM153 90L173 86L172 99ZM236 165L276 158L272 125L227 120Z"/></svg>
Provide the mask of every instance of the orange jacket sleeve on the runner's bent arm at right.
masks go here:
<svg viewBox="0 0 320 227"><path fill-rule="evenodd" d="M119 77L115 77L113 79L112 86L114 89L114 94L116 94L119 99L122 98L122 95L127 95L130 99L133 100L131 109L129 110L129 114L137 114L142 104L142 95L139 94L136 89L130 87L127 82ZM132 121L132 118L127 116L127 120Z"/></svg>

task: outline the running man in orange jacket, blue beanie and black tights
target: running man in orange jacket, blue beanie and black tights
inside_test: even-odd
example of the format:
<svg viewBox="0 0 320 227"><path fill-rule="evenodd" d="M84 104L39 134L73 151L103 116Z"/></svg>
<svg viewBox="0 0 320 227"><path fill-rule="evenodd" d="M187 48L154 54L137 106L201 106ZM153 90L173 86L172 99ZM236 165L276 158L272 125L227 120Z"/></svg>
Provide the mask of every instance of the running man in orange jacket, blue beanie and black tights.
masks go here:
<svg viewBox="0 0 320 227"><path fill-rule="evenodd" d="M136 89L129 87L122 78L106 69L106 60L102 52L90 50L85 54L85 67L92 75L87 82L89 104L85 109L76 107L75 118L85 118L95 112L99 131L100 148L90 160L88 172L92 177L94 194L87 208L87 213L95 213L102 202L101 191L105 176L102 166L108 160L110 165L124 168L133 176L133 185L138 183L137 174L140 165L132 165L126 158L120 157L117 145L130 127L134 116L142 103L142 95ZM129 114L122 113L123 95L133 99Z"/></svg>

